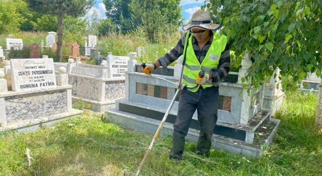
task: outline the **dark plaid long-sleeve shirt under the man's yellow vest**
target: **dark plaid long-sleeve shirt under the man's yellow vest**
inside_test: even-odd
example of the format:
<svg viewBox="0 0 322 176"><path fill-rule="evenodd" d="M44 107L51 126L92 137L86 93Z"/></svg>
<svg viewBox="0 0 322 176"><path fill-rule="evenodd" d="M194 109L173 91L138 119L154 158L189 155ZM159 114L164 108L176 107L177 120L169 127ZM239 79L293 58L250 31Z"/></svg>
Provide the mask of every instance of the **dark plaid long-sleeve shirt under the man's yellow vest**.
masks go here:
<svg viewBox="0 0 322 176"><path fill-rule="evenodd" d="M211 36L210 40L205 44L205 46L202 48L201 51L198 46L198 41L196 40L195 37L192 37L193 49L200 63L205 58L207 51L209 50L209 47L213 40L213 34L209 32L209 35ZM177 60L183 54L185 41L186 41L186 33L181 36L177 45L169 53L167 53L165 56L158 59L158 62L160 63L160 65L162 65L163 68L167 68L169 64ZM228 75L229 70L230 70L230 51L229 51L229 44L227 43L224 51L221 53L218 67L213 68L211 70L213 85L218 86L220 80Z"/></svg>

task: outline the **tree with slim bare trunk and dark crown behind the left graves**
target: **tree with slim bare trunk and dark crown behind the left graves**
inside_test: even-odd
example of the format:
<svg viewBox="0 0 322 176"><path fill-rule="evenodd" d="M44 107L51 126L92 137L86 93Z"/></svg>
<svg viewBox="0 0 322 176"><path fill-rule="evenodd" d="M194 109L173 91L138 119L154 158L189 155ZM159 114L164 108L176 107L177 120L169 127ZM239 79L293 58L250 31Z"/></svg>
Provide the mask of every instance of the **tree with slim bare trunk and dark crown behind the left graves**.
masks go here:
<svg viewBox="0 0 322 176"><path fill-rule="evenodd" d="M57 56L61 62L62 19L63 16L82 17L94 5L94 0L26 0L29 8L41 14L57 16L58 41Z"/></svg>

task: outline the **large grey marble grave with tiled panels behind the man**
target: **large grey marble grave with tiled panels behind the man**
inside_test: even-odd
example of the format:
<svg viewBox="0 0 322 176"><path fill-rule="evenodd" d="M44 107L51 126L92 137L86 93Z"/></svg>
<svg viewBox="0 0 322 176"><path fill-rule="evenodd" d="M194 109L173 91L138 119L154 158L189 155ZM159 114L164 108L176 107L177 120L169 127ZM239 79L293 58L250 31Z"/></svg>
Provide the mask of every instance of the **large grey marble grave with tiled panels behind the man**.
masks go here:
<svg viewBox="0 0 322 176"><path fill-rule="evenodd" d="M136 61L129 61L125 98L116 100L116 108L106 111L106 117L107 121L123 127L154 134L177 90L174 84L164 79L177 82L179 77L174 76L178 75L176 66L169 67L169 72L163 68L152 71L164 79L148 76L140 67ZM236 83L240 81L238 74L230 73L226 80L231 82L223 81L219 85L218 122L213 131L212 147L260 156L276 134L279 120L271 117L272 110L263 108L264 87L252 87L248 94L240 82ZM172 134L177 110L178 98L160 135ZM199 128L195 113L186 139L196 142Z"/></svg>

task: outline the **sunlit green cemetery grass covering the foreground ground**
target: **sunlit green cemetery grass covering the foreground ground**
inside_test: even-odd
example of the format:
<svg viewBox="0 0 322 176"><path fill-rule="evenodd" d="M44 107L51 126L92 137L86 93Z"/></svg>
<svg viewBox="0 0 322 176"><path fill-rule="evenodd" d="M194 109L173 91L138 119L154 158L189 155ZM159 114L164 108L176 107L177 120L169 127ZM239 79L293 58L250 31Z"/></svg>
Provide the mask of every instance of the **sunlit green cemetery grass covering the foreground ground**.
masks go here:
<svg viewBox="0 0 322 176"><path fill-rule="evenodd" d="M320 175L322 135L313 127L317 98L296 94L286 94L275 117L281 120L277 135L262 157L211 150L206 158L195 155L196 144L187 142L184 160L177 163L168 159L171 136L160 137L141 175ZM35 132L3 132L0 175L123 175L136 171L151 139L85 110Z"/></svg>

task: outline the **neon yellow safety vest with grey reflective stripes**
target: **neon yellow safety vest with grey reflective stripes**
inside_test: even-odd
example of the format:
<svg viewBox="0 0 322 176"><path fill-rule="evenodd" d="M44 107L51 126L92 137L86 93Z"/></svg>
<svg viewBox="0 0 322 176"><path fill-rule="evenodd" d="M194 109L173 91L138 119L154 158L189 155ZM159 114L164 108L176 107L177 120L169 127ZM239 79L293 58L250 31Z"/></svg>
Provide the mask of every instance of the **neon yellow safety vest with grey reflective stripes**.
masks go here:
<svg viewBox="0 0 322 176"><path fill-rule="evenodd" d="M188 37L189 32L187 32L186 40L188 40L189 44L188 44L188 47L185 46L184 48L184 53L187 52L187 59L186 59L182 78L183 78L183 82L190 87L194 87L197 85L196 77L201 70L204 70L205 74L209 74L212 68L218 67L221 53L225 50L227 37L219 33L215 33L215 32L212 32L212 33L213 33L212 43L209 47L209 50L207 51L205 58L200 64L193 50L192 36ZM200 85L198 85L193 89L188 88L188 90L191 92L196 92L199 89L199 86ZM211 87L211 86L213 86L212 80L207 80L204 84L202 84L202 87L204 89L206 87Z"/></svg>

